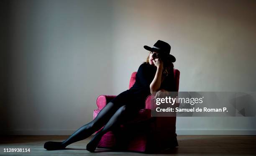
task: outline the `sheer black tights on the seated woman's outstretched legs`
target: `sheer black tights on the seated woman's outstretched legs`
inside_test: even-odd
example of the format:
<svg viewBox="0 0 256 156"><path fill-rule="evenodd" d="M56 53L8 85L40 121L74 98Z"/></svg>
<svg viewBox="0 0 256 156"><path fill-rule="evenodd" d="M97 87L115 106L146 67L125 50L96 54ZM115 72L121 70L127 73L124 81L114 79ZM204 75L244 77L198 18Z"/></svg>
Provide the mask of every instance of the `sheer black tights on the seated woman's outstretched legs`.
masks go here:
<svg viewBox="0 0 256 156"><path fill-rule="evenodd" d="M96 140L95 143L97 143L105 133L120 125L120 123L127 121L127 114L127 105L115 105L113 102L109 102L102 110L100 110L94 120L83 125L69 136L67 140L63 141L62 146L66 147L71 143L84 140L105 125L93 138Z"/></svg>

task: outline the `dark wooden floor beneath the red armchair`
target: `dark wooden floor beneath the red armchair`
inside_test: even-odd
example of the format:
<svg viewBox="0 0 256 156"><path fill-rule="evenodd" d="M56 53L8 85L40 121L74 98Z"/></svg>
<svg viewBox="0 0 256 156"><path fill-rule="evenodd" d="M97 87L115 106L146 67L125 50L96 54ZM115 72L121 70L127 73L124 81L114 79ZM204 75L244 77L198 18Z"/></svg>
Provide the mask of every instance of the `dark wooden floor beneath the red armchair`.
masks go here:
<svg viewBox="0 0 256 156"><path fill-rule="evenodd" d="M97 148L96 153L86 150L90 141L83 141L67 146L67 150L47 151L44 149L46 141L63 141L67 136L0 136L1 156L118 156L118 155L155 155L136 152L117 152ZM179 146L174 150L167 150L158 155L256 155L256 136L178 136ZM4 152L4 148L30 148L30 152Z"/></svg>

